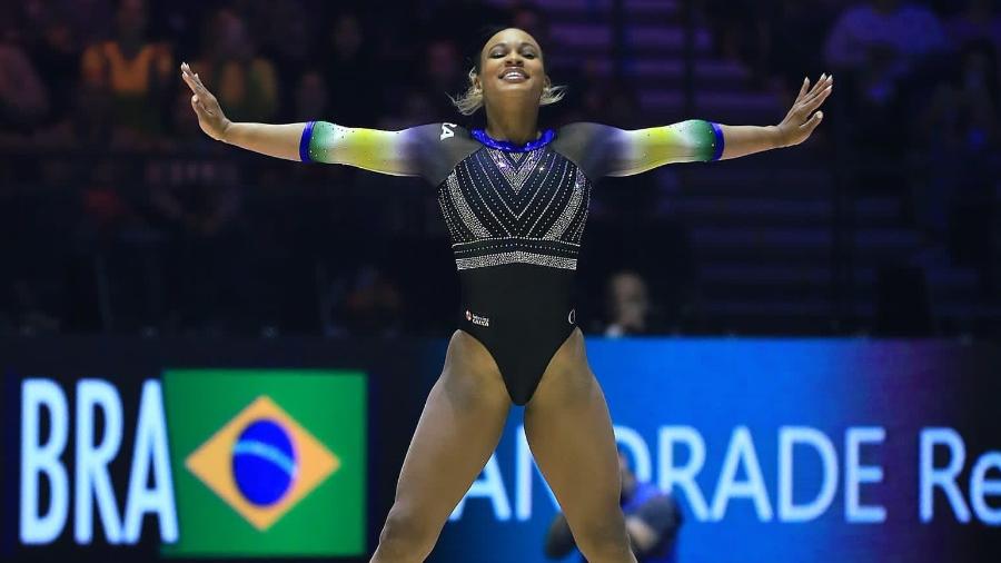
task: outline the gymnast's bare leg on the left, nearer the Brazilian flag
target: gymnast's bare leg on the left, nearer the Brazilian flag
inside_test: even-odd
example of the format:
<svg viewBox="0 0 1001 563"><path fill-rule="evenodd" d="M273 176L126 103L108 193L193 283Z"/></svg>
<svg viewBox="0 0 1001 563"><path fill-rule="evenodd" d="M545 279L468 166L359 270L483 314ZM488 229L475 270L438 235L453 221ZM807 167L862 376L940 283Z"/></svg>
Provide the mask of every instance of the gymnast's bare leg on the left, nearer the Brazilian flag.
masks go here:
<svg viewBox="0 0 1001 563"><path fill-rule="evenodd" d="M456 330L424 406L371 563L422 562L497 447L511 398L483 344Z"/></svg>

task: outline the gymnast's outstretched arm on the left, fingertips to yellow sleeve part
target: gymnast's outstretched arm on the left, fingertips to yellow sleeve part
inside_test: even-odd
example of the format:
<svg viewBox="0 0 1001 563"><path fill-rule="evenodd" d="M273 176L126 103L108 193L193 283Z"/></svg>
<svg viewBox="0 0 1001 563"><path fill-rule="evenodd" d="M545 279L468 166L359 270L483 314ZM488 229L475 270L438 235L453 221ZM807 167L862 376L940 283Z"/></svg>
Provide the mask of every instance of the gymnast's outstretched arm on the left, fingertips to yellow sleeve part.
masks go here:
<svg viewBox="0 0 1001 563"><path fill-rule="evenodd" d="M419 174L416 148L422 128L381 131L326 121L232 122L187 63L181 65L181 77L194 92L191 107L198 116L198 125L212 139L287 160L348 165L394 176Z"/></svg>

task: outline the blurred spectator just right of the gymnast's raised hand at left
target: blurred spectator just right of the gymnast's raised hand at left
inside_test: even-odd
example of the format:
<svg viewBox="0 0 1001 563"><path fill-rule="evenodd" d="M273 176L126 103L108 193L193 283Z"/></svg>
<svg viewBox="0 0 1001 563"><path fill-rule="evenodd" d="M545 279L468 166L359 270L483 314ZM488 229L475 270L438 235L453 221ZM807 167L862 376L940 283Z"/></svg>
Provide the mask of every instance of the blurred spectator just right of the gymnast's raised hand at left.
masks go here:
<svg viewBox="0 0 1001 563"><path fill-rule="evenodd" d="M278 108L275 66L257 55L244 19L221 9L207 22L202 58L192 65L235 121L271 121Z"/></svg>

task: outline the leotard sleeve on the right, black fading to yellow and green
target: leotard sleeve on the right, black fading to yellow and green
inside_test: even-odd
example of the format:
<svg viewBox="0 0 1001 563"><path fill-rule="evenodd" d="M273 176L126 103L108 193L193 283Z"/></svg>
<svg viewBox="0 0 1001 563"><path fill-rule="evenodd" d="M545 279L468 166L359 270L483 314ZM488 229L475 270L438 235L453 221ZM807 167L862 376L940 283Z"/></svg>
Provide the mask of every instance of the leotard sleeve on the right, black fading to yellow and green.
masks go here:
<svg viewBox="0 0 1001 563"><path fill-rule="evenodd" d="M631 176L674 162L718 160L724 146L720 126L702 119L633 130L573 124L564 127L559 137L567 158L592 180Z"/></svg>

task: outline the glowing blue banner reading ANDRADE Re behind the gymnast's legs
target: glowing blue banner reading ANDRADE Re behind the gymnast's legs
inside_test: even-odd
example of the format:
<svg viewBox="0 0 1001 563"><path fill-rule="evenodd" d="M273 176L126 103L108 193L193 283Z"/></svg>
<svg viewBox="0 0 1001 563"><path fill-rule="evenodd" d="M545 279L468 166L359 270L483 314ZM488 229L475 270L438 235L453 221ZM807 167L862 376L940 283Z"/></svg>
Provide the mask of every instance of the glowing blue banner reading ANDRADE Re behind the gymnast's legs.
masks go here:
<svg viewBox="0 0 1001 563"><path fill-rule="evenodd" d="M682 506L674 561L1001 554L997 348L589 339L587 353L621 450ZM546 561L558 506L521 423L517 411L432 561Z"/></svg>

